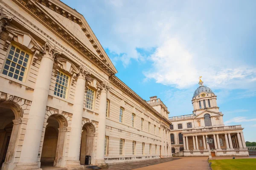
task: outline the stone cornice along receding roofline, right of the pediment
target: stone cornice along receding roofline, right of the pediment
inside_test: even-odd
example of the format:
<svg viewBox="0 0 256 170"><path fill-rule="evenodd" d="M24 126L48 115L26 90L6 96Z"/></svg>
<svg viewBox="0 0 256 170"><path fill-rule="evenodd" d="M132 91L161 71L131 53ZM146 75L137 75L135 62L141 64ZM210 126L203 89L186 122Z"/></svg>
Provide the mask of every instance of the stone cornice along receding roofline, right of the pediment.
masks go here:
<svg viewBox="0 0 256 170"><path fill-rule="evenodd" d="M129 88L127 85L125 85L124 82L122 82L120 79L118 79L116 76L111 76L109 80L116 85L120 90L125 92L128 96L135 99L140 105L143 105L145 108L147 108L149 111L153 112L157 117L159 117L161 120L166 122L168 125L171 124L171 122L164 116L162 116L160 113L158 113L154 108L151 107L145 100L143 100L138 94L136 94L131 88Z"/></svg>

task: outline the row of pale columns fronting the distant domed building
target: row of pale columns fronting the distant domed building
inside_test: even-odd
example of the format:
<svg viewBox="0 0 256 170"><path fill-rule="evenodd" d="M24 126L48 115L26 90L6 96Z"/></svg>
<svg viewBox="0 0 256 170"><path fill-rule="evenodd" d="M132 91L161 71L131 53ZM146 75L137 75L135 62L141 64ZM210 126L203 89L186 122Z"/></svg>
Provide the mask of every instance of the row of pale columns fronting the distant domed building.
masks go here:
<svg viewBox="0 0 256 170"><path fill-rule="evenodd" d="M216 133L216 134L204 134L204 135L193 135L192 141L193 141L193 151L199 151L198 147L198 137L202 136L202 145L204 147L204 150L207 149L212 149L212 148L207 148L209 147L209 144L207 144L207 138L209 139L209 136L213 136L214 140L214 148L216 150L222 150L224 148L221 148L221 143L220 143L220 137L219 135L224 134L225 136L225 144L226 144L226 150L234 150L234 149L246 149L246 144L244 141L244 134L243 132L236 132L235 135L231 136L230 133ZM184 145L184 150L191 150L189 149L189 136L183 136L183 145ZM224 146L224 141L222 141Z"/></svg>

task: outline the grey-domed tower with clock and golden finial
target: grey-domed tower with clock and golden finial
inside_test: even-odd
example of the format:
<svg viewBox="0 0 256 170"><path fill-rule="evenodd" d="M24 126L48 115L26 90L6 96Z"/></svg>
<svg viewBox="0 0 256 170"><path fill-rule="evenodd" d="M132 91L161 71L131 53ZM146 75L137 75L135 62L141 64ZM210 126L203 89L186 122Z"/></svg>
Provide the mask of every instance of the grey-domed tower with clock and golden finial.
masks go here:
<svg viewBox="0 0 256 170"><path fill-rule="evenodd" d="M210 88L204 86L204 82L201 80L201 77L198 84L199 87L195 90L192 97L192 105L194 108L193 113L198 115L204 110L219 112L216 102L217 96L215 96Z"/></svg>

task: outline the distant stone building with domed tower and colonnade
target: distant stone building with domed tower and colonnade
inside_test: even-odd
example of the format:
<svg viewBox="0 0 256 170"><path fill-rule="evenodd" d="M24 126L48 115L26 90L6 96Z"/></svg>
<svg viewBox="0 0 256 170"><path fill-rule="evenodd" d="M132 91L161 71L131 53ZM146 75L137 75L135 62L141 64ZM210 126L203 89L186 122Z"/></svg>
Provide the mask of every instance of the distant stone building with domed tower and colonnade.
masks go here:
<svg viewBox="0 0 256 170"><path fill-rule="evenodd" d="M201 79L198 84L192 97L193 113L169 118L172 153L182 151L180 154L184 156L208 156L210 150L212 156L249 156L244 128L225 126L217 96Z"/></svg>

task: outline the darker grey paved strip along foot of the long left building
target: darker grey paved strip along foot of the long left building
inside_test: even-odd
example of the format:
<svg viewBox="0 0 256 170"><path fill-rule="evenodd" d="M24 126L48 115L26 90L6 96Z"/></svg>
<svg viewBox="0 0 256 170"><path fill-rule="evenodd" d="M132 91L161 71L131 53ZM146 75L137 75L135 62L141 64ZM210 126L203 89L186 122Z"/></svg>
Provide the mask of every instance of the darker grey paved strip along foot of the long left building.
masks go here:
<svg viewBox="0 0 256 170"><path fill-rule="evenodd" d="M116 164L110 165L108 168L103 168L102 170L134 170L136 168L145 167L148 170L148 166L154 164L161 164L163 162L172 162L173 160L177 160L179 158L166 158L166 159L156 159L156 160L149 160L149 161L139 161L139 162L131 162L125 164ZM154 169L155 170L155 169ZM158 170L158 169L157 169Z"/></svg>

